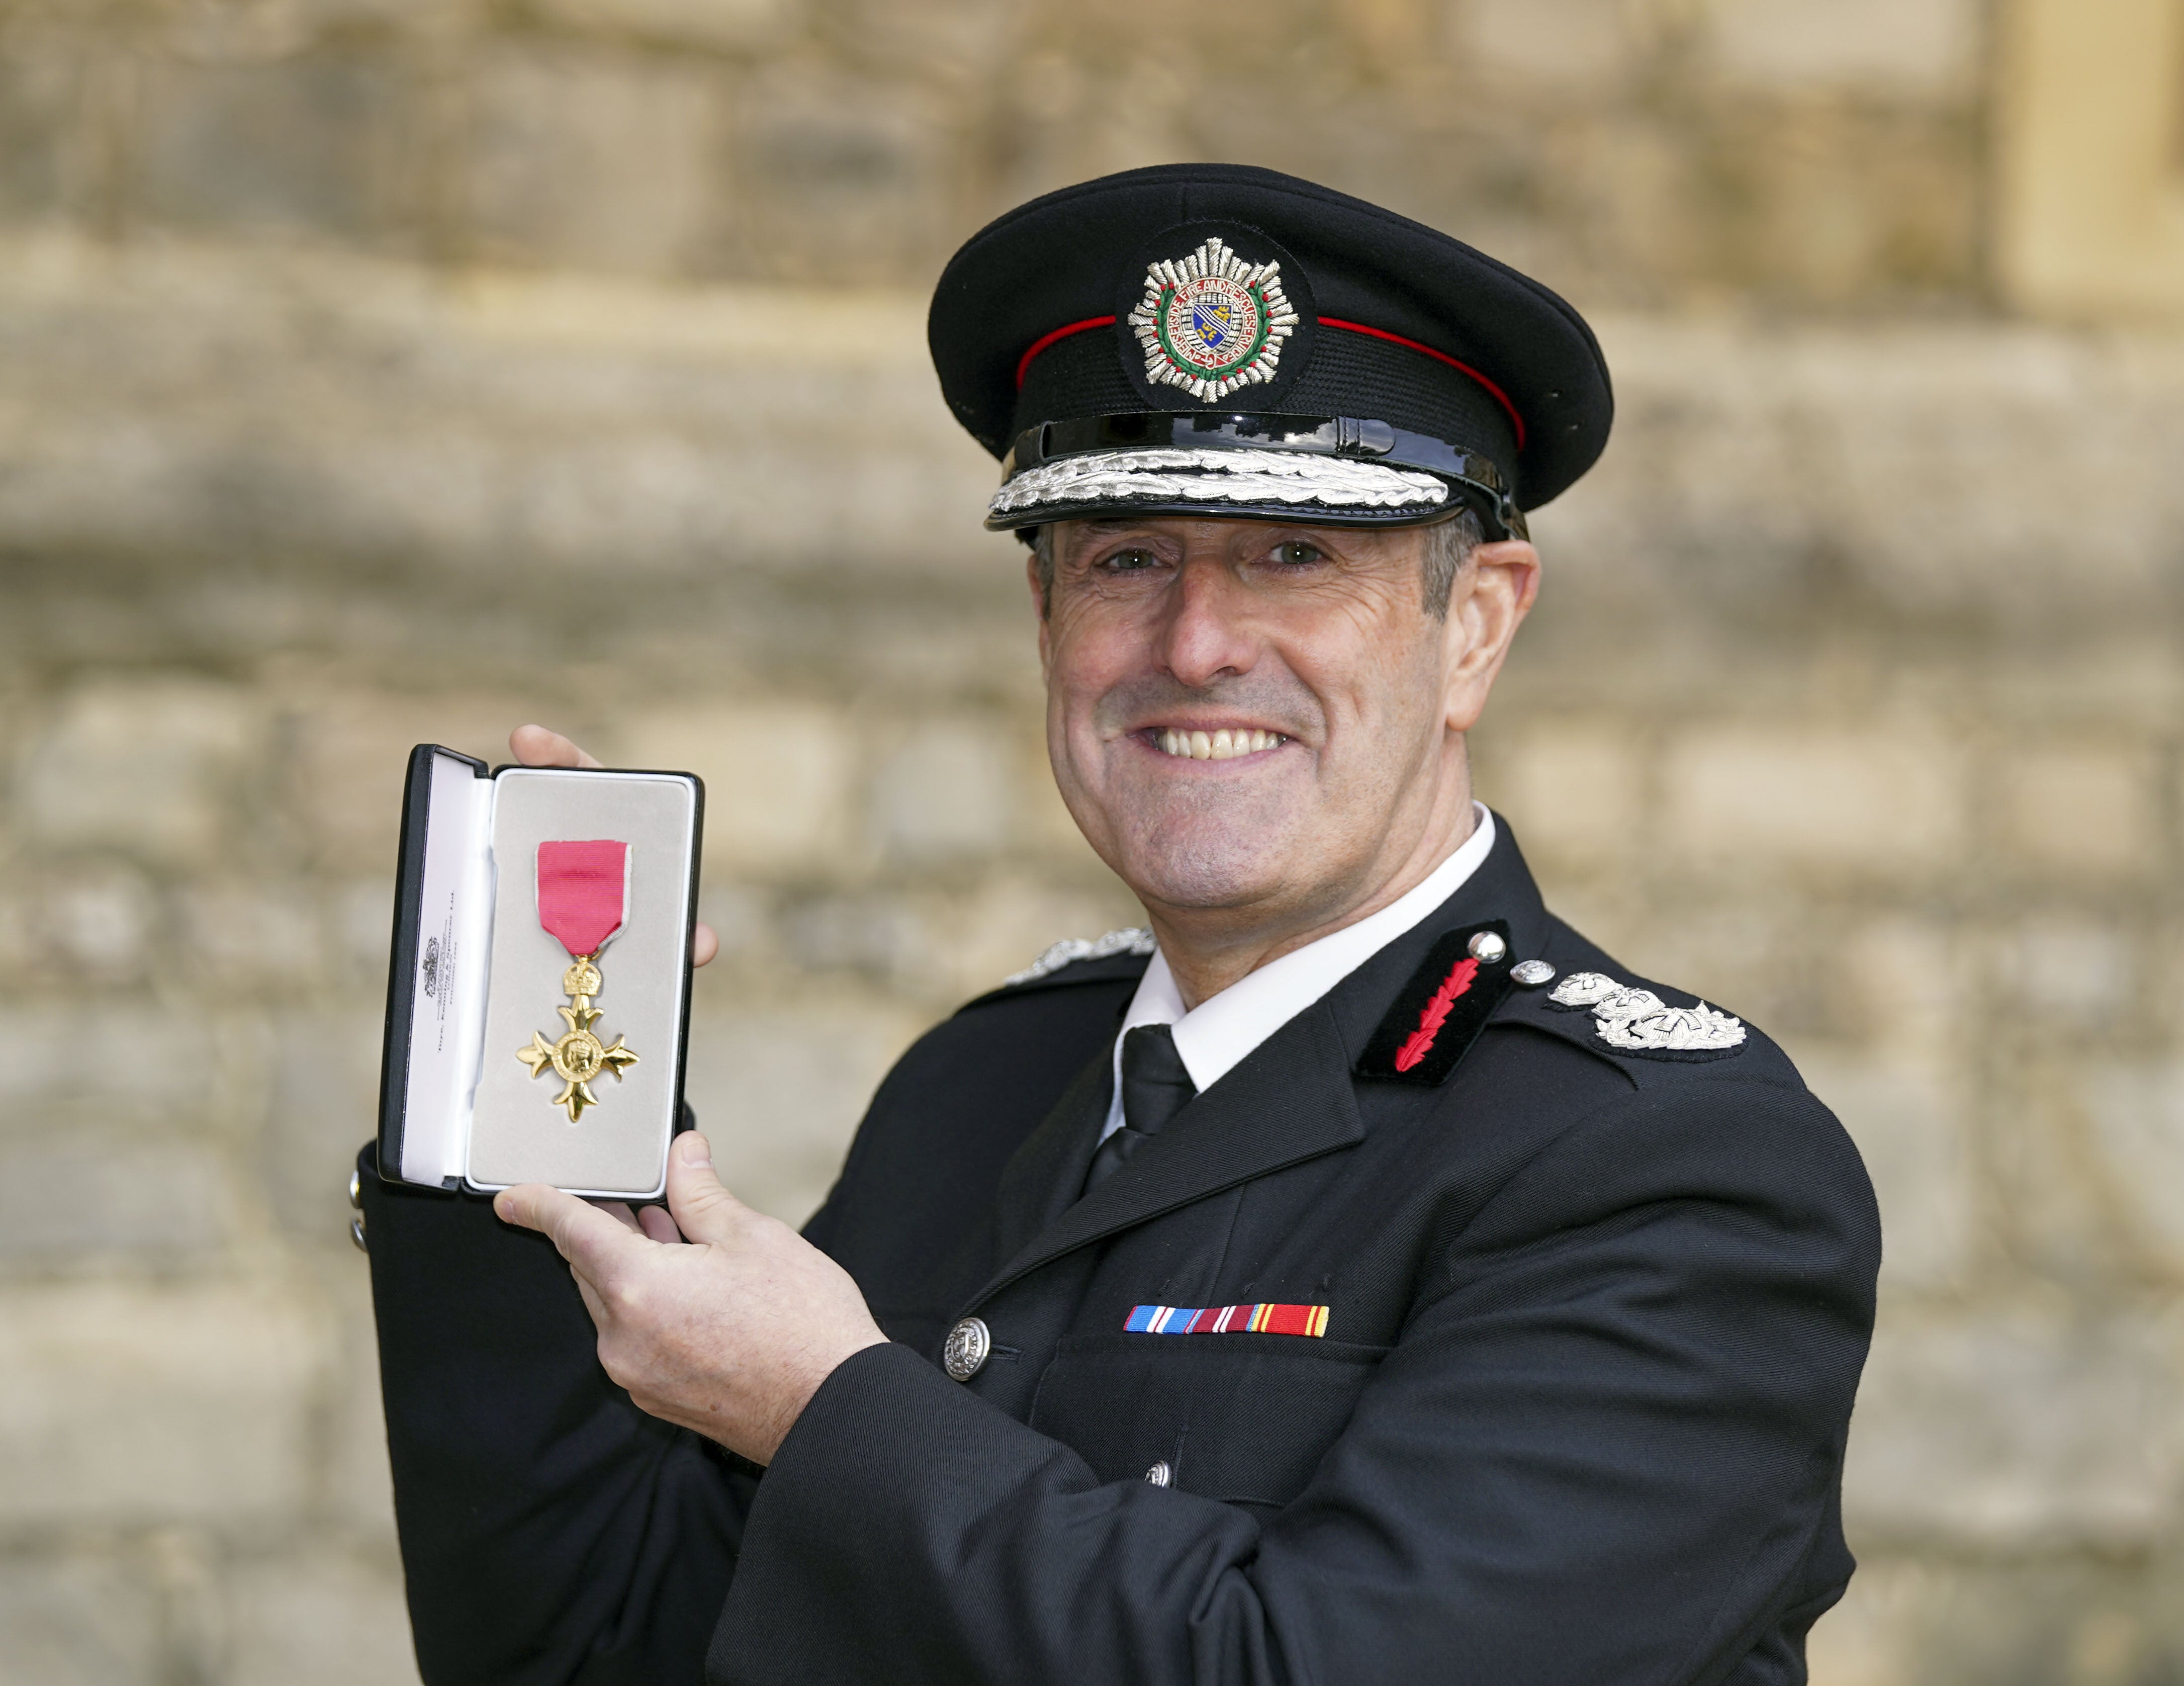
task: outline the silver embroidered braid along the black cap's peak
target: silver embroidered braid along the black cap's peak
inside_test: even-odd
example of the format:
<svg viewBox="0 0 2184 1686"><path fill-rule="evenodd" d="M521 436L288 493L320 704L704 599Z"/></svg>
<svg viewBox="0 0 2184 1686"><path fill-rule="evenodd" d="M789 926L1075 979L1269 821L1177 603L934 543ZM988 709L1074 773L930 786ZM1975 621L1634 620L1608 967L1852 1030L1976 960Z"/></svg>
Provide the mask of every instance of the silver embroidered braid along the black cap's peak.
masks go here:
<svg viewBox="0 0 2184 1686"><path fill-rule="evenodd" d="M1289 450L1105 450L1024 470L1002 483L987 513L1138 500L1437 509L1448 502L1448 485L1431 474Z"/></svg>

